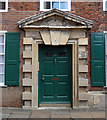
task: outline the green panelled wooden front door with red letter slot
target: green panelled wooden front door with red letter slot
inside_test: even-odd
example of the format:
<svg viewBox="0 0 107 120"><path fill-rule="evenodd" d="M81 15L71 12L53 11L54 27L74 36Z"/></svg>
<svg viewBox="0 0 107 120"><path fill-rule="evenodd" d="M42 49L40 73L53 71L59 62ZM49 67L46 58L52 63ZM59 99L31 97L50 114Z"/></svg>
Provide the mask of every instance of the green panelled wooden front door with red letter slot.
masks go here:
<svg viewBox="0 0 107 120"><path fill-rule="evenodd" d="M70 46L39 47L39 103L71 103Z"/></svg>

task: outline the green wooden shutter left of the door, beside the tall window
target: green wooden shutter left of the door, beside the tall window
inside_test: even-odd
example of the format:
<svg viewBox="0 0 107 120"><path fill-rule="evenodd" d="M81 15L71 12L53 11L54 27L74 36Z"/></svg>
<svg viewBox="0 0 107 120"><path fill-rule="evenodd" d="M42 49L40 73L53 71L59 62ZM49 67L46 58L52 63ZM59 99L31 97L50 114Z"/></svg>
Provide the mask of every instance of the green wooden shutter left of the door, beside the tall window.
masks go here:
<svg viewBox="0 0 107 120"><path fill-rule="evenodd" d="M19 85L20 33L6 33L5 84Z"/></svg>

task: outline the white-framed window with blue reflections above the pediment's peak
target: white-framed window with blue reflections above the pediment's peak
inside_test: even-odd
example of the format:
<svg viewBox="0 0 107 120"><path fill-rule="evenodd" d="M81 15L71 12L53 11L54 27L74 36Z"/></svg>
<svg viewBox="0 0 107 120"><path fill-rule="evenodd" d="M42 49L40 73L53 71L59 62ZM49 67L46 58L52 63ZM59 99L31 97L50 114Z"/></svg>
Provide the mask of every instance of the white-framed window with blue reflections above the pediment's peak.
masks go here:
<svg viewBox="0 0 107 120"><path fill-rule="evenodd" d="M71 0L40 0L40 10L47 11L51 9L60 9L63 11L70 11Z"/></svg>

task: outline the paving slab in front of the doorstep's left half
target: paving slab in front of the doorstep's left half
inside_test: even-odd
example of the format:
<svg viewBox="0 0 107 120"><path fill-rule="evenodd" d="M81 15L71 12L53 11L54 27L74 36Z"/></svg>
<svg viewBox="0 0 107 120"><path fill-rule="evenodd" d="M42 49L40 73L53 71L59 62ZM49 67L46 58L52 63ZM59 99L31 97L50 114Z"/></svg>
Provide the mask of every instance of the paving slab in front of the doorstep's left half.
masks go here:
<svg viewBox="0 0 107 120"><path fill-rule="evenodd" d="M45 111L45 110L40 110L40 111L32 111L32 114L30 116L30 118L50 118L51 114L49 111Z"/></svg>

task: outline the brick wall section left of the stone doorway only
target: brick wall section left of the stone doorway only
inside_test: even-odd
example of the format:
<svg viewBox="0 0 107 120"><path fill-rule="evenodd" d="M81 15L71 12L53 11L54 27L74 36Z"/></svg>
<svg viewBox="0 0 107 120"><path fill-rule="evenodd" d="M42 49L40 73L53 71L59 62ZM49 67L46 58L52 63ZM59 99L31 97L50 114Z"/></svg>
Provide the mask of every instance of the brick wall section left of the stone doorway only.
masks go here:
<svg viewBox="0 0 107 120"><path fill-rule="evenodd" d="M37 8L38 7L38 8ZM37 14L39 10L38 3L22 3L11 2L9 3L8 12L2 13L2 30L8 32L20 32L20 85L19 87L5 87L2 88L2 106L4 107L21 107L22 106L22 65L23 65L23 44L22 38L24 31L18 28L17 22L26 17ZM15 88L15 89L14 89Z"/></svg>

